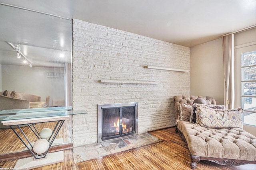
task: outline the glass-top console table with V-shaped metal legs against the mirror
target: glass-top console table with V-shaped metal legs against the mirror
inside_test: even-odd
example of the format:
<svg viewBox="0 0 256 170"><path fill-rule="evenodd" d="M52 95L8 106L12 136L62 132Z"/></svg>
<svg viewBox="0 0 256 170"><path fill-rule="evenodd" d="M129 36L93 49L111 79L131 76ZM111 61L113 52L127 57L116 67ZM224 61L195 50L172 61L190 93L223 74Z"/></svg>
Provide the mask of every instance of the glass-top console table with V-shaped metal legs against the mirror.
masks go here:
<svg viewBox="0 0 256 170"><path fill-rule="evenodd" d="M85 110L72 110L72 107L48 107L48 108L36 108L36 109L13 109L13 110L2 110L0 111L0 123L3 125L10 126L16 136L22 141L30 153L35 159L45 158L48 150L52 146L52 143L58 132L60 131L64 121L69 119L71 115L86 114ZM35 123L54 122L54 129L50 129L49 136L47 138L42 137L41 131L38 131L34 126ZM20 125L27 125L31 130L30 133L34 133L39 141L46 141L48 145L45 147L43 152L36 152L34 146L28 139L27 135L22 130ZM44 128L48 129L49 128ZM35 144L34 144L35 145Z"/></svg>

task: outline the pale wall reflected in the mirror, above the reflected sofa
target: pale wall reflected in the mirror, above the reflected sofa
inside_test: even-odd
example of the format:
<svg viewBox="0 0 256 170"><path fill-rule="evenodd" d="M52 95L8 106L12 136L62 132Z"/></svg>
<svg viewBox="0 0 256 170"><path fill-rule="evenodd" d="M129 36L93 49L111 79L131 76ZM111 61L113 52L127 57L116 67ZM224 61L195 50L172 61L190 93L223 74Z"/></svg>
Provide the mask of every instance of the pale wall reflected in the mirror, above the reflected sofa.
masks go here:
<svg viewBox="0 0 256 170"><path fill-rule="evenodd" d="M52 106L52 99L64 100L64 78L49 78L47 72L64 73L64 68L2 65L2 91L34 94L41 96L42 101L50 96Z"/></svg>

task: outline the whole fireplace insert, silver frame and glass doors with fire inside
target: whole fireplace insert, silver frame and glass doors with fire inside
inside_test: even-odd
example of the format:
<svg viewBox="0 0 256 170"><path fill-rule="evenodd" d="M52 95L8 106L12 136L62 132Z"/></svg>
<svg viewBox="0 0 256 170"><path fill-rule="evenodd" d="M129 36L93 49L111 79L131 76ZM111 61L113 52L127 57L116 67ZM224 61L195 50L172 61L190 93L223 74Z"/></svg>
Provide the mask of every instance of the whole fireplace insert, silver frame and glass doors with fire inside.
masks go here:
<svg viewBox="0 0 256 170"><path fill-rule="evenodd" d="M138 134L138 102L98 105L98 142Z"/></svg>

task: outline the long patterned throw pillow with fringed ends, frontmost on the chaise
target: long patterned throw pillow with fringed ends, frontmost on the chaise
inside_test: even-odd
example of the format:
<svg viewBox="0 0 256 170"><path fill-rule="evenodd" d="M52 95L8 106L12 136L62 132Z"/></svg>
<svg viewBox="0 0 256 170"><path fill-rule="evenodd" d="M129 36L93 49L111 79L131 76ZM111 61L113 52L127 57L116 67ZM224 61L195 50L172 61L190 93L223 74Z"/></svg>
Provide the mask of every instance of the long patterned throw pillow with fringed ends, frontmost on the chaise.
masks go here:
<svg viewBox="0 0 256 170"><path fill-rule="evenodd" d="M242 114L242 108L222 110L196 107L196 123L206 128L239 127L243 129Z"/></svg>

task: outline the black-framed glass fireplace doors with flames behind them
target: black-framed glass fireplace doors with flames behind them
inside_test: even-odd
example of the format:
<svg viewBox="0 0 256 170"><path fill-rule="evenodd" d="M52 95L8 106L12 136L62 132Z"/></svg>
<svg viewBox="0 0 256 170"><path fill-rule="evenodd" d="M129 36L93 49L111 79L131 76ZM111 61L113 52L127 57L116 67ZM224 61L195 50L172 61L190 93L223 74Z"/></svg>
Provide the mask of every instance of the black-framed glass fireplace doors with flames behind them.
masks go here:
<svg viewBox="0 0 256 170"><path fill-rule="evenodd" d="M135 134L135 106L102 109L102 141Z"/></svg>

